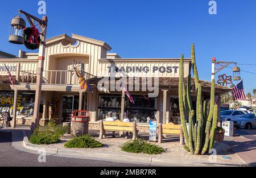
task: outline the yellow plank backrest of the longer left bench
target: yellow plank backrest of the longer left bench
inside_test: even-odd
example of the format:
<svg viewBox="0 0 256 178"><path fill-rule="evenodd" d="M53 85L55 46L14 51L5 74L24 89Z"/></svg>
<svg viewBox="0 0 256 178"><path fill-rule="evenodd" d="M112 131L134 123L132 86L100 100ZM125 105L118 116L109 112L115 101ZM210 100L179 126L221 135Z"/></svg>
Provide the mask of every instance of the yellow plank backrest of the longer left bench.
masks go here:
<svg viewBox="0 0 256 178"><path fill-rule="evenodd" d="M103 122L104 130L117 130L117 131L133 131L133 122L121 122L115 120L114 122Z"/></svg>

